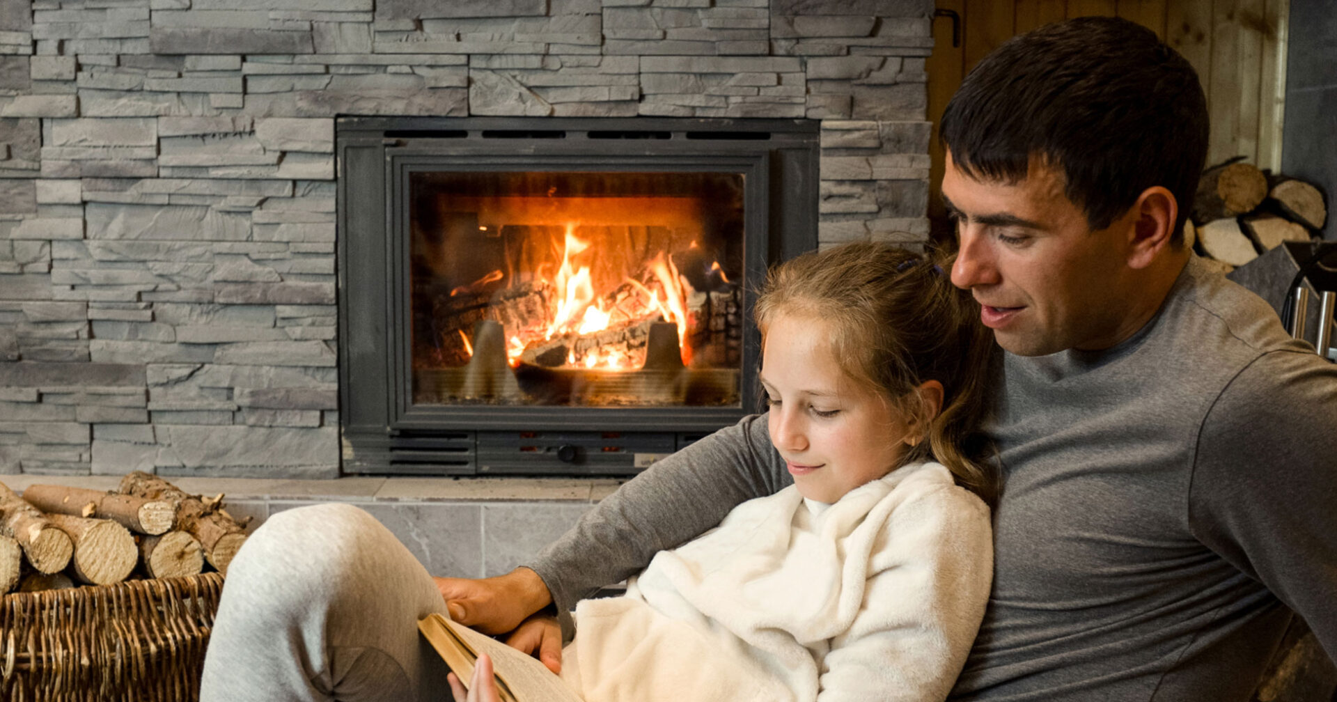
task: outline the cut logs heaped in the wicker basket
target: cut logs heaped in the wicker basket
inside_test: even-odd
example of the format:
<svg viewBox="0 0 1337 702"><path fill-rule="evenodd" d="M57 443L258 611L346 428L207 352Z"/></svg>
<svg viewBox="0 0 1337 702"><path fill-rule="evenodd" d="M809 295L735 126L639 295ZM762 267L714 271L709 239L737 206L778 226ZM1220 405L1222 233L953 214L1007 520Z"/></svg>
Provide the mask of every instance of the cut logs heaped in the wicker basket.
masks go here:
<svg viewBox="0 0 1337 702"><path fill-rule="evenodd" d="M246 539L222 495L187 495L143 472L116 491L0 484L0 594L226 574Z"/></svg>

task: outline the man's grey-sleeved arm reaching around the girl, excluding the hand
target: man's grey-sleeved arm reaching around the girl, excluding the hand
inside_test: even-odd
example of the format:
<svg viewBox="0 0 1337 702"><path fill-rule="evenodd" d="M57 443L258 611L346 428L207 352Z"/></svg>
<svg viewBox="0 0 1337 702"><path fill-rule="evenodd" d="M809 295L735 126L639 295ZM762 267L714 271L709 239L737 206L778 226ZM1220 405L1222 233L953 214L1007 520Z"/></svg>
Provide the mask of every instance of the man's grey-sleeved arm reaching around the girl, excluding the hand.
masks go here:
<svg viewBox="0 0 1337 702"><path fill-rule="evenodd" d="M644 568L658 551L718 525L737 504L792 481L770 445L766 416L743 417L618 488L525 567L567 611Z"/></svg>

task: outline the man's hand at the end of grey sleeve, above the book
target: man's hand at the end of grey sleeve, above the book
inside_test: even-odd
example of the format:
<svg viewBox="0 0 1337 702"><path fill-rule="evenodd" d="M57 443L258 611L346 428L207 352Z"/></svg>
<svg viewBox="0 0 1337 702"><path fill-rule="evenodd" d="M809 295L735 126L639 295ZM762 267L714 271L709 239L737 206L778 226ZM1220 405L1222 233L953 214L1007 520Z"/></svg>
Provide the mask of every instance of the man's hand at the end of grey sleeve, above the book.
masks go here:
<svg viewBox="0 0 1337 702"><path fill-rule="evenodd" d="M481 580L433 579L436 588L445 598L451 619L484 634L505 634L552 602L548 586L543 584L539 574L529 568L516 568L505 575ZM559 645L560 638L559 634Z"/></svg>

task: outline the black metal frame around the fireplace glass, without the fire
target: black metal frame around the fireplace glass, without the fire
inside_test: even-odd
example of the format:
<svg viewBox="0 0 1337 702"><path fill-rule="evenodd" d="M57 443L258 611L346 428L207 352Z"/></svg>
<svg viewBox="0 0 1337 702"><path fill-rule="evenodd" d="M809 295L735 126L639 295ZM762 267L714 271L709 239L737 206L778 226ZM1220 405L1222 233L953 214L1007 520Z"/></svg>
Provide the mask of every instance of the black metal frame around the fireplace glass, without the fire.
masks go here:
<svg viewBox="0 0 1337 702"><path fill-rule="evenodd" d="M767 265L817 246L817 131L809 120L340 118L344 472L626 475L755 412L750 308ZM742 406L414 405L405 186L444 159L453 171L743 174Z"/></svg>

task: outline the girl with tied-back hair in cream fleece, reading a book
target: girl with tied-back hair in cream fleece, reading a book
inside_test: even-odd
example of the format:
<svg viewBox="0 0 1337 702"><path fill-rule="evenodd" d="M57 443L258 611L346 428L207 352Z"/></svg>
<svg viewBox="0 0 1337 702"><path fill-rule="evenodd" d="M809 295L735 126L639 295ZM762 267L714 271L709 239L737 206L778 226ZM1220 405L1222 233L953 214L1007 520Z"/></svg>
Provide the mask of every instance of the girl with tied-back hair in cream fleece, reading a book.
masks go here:
<svg viewBox="0 0 1337 702"><path fill-rule="evenodd" d="M771 271L761 384L794 484L579 603L562 677L587 702L945 699L984 615L995 477L973 440L992 341L944 266L850 243Z"/></svg>

